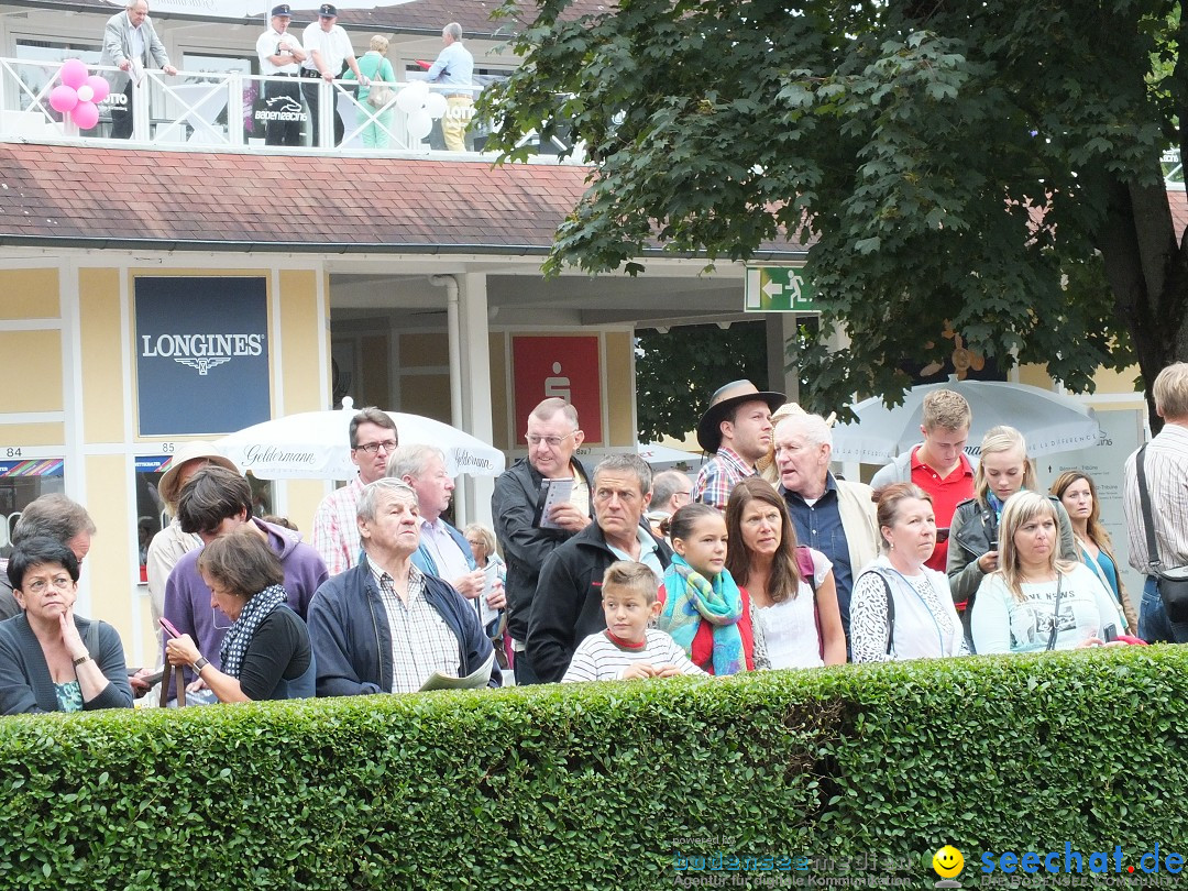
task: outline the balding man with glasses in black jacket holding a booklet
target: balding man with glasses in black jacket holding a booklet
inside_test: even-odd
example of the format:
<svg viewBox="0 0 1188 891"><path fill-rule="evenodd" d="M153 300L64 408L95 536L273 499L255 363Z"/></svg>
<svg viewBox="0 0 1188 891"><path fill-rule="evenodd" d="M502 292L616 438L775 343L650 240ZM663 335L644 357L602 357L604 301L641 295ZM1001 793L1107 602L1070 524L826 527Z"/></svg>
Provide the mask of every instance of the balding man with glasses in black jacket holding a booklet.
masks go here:
<svg viewBox="0 0 1188 891"><path fill-rule="evenodd" d="M507 563L507 632L516 651L516 683L537 683L524 642L541 567L593 517L589 474L574 451L582 444L577 410L564 399L545 399L527 417L527 457L507 468L491 497L495 536ZM544 514L545 480L571 480L569 499ZM560 680L560 677L558 677Z"/></svg>

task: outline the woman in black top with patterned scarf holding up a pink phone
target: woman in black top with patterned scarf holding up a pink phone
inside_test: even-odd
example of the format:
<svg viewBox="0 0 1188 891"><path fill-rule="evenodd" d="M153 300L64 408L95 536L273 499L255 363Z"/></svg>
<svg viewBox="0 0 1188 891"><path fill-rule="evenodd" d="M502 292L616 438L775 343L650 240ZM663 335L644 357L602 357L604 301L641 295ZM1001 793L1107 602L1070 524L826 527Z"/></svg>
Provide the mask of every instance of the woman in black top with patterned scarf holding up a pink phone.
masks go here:
<svg viewBox="0 0 1188 891"><path fill-rule="evenodd" d="M189 665L220 702L308 699L314 695L314 652L305 623L289 608L285 574L254 529L210 542L198 557L210 605L234 623L219 652L220 671L189 634L165 644L170 665Z"/></svg>

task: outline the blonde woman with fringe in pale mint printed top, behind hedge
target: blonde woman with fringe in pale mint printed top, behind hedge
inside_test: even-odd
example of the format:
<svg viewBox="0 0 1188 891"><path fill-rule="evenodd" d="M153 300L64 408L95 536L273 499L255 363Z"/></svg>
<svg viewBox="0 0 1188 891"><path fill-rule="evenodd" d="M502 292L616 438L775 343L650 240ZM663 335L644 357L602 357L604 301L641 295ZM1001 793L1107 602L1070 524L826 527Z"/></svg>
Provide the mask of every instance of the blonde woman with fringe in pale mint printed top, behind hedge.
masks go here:
<svg viewBox="0 0 1188 891"><path fill-rule="evenodd" d="M1074 650L1123 627L1113 596L1093 570L1057 556L1056 504L1020 492L1004 508L1000 565L973 605L978 652Z"/></svg>

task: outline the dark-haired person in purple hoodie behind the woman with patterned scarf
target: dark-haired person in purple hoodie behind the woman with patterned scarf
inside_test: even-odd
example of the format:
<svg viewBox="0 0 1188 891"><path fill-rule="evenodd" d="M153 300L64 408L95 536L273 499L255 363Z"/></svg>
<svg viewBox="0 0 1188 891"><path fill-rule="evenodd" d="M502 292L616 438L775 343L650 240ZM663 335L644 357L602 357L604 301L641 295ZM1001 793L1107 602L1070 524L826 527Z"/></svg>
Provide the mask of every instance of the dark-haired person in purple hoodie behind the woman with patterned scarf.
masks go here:
<svg viewBox="0 0 1188 891"><path fill-rule="evenodd" d="M317 551L303 544L301 535L283 526L265 523L252 516L252 487L246 479L226 467L209 465L190 478L177 499L177 520L183 532L196 533L203 545L219 536L248 526L280 560L285 573L285 594L289 606L302 619L309 609L314 593L329 579L326 564ZM165 618L190 638L211 665L222 669L220 649L230 627L228 619L213 601L210 588L198 573L198 556L202 549L182 557L165 584ZM254 593L254 592L253 592ZM187 682L194 682L188 690L197 693L206 684L187 669ZM170 681L170 696L175 696ZM190 704L214 702L209 691L187 699Z"/></svg>

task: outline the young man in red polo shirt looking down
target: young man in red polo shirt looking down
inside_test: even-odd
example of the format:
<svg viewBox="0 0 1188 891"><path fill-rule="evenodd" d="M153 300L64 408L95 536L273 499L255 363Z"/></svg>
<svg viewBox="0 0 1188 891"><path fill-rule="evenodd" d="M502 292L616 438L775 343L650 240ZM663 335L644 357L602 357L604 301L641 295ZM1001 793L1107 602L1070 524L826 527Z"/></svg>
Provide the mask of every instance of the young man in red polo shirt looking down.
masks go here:
<svg viewBox="0 0 1188 891"><path fill-rule="evenodd" d="M876 492L892 482L914 482L933 497L936 548L924 565L946 571L949 523L958 505L973 498L975 465L965 454L973 412L961 393L934 390L924 397L920 432L924 441L899 455L871 480Z"/></svg>

